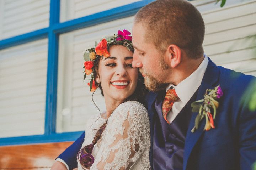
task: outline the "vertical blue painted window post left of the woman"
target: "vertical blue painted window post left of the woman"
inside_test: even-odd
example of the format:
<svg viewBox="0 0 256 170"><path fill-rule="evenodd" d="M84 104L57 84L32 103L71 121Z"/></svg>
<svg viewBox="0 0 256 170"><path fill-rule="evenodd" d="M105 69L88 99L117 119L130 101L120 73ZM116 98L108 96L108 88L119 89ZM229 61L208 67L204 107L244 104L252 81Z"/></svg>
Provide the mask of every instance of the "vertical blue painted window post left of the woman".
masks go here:
<svg viewBox="0 0 256 170"><path fill-rule="evenodd" d="M59 23L60 0L50 1L50 23L49 27ZM52 31L48 34L48 65L46 86L46 113L45 113L45 135L56 131L56 108L57 108L57 79L58 79L58 49L59 34Z"/></svg>

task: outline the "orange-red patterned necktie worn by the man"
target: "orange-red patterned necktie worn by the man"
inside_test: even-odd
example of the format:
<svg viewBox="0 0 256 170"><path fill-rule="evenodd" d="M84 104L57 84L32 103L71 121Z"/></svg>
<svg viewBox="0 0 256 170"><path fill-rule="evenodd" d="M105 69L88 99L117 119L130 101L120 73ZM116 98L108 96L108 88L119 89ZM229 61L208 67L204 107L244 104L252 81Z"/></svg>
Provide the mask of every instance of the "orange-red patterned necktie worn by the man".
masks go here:
<svg viewBox="0 0 256 170"><path fill-rule="evenodd" d="M163 113L164 119L167 121L168 124L170 123L166 119L167 114L172 109L172 105L177 99L178 99L178 95L176 94L174 89L167 90L164 98L164 102L162 104L162 113Z"/></svg>

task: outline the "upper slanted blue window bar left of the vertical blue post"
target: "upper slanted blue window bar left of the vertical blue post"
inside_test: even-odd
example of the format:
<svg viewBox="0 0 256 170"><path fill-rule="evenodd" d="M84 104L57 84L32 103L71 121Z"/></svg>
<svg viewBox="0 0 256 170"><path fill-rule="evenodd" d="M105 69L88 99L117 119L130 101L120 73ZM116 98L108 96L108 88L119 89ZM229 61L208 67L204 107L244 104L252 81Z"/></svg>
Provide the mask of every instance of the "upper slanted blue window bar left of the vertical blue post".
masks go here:
<svg viewBox="0 0 256 170"><path fill-rule="evenodd" d="M15 45L24 44L26 42L35 41L38 39L47 38L47 34L49 32L49 28L39 29L30 33L18 35L12 38L7 38L0 41L0 50L5 49L7 47L12 47Z"/></svg>

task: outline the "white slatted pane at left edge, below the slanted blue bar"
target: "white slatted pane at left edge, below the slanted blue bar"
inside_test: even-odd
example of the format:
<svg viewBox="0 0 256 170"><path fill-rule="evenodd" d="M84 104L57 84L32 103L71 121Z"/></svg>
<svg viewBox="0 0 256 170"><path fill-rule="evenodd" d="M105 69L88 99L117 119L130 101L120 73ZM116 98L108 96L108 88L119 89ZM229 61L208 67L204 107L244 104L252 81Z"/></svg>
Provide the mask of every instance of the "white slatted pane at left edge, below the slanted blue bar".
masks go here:
<svg viewBox="0 0 256 170"><path fill-rule="evenodd" d="M44 134L47 39L0 50L0 138Z"/></svg>

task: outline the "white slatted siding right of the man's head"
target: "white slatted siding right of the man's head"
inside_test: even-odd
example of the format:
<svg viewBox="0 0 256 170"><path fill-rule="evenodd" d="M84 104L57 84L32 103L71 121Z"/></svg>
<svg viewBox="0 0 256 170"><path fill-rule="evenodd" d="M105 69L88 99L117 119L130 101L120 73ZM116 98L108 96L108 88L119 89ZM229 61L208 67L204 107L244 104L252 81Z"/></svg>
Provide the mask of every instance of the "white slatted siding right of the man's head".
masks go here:
<svg viewBox="0 0 256 170"><path fill-rule="evenodd" d="M220 8L215 1L192 1L203 11L204 52L217 65L256 75L256 0L227 2L233 4Z"/></svg>

